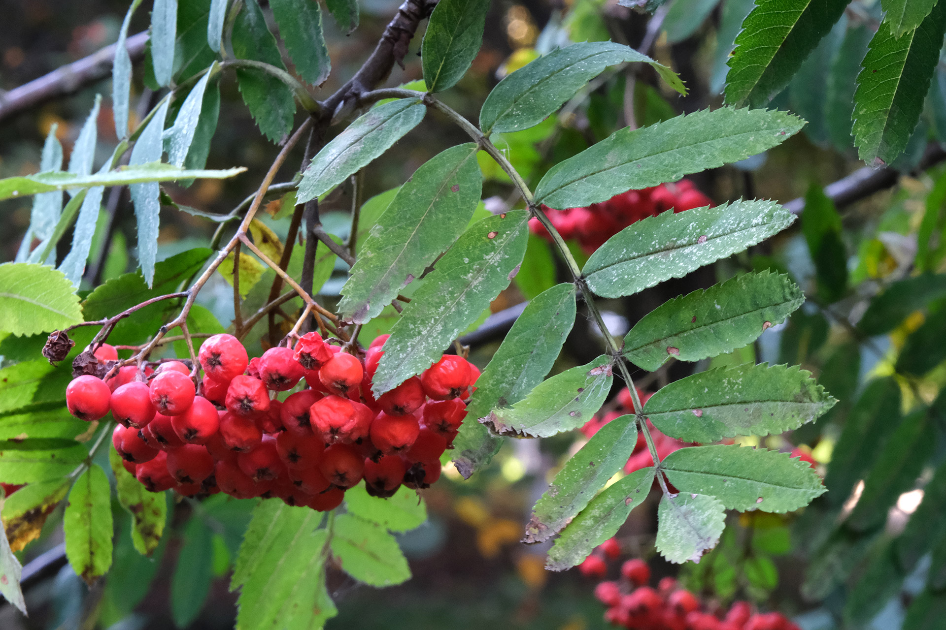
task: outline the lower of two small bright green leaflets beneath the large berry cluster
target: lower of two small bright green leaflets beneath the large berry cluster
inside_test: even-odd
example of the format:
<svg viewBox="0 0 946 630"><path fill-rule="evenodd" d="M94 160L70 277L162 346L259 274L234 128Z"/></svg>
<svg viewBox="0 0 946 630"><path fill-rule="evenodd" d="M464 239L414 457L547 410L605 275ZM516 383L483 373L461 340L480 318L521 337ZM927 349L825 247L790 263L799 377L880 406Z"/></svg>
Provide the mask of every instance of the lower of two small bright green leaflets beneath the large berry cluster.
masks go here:
<svg viewBox="0 0 946 630"><path fill-rule="evenodd" d="M351 514L335 519L332 555L342 570L373 587L390 587L411 579L408 561L394 536Z"/></svg>

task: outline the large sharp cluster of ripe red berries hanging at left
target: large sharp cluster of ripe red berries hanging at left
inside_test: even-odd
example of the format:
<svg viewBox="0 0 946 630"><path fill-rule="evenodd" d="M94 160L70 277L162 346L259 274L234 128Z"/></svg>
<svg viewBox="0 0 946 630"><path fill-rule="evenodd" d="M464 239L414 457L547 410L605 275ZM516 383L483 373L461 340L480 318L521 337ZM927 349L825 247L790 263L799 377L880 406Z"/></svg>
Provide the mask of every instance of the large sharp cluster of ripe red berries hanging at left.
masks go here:
<svg viewBox="0 0 946 630"><path fill-rule="evenodd" d="M463 357L444 355L376 399L372 378L387 338L359 358L309 332L294 349L251 361L235 336L217 334L201 345L199 388L197 369L180 361L153 372L124 366L108 382L79 376L66 405L83 420L112 412L115 451L152 492L279 497L330 510L361 479L377 497L437 481L480 375ZM117 353L103 345L96 358ZM275 398L303 381L306 388Z"/></svg>

